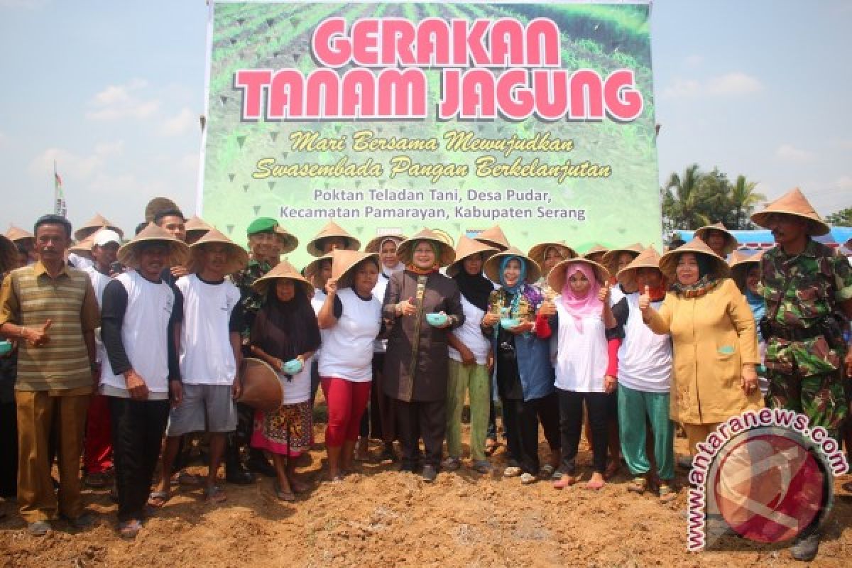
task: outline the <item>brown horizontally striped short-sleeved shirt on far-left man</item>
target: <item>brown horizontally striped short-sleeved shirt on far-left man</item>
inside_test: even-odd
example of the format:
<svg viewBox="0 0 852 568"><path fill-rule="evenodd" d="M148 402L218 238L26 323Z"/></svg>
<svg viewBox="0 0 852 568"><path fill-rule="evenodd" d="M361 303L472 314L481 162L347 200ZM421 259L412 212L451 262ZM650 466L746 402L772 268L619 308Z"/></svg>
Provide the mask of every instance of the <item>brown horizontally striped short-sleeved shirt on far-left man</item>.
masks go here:
<svg viewBox="0 0 852 568"><path fill-rule="evenodd" d="M0 325L8 322L40 329L48 319L52 324L47 344L20 344L15 389L91 392L92 372L83 333L95 330L101 316L89 276L63 266L51 278L40 261L9 273L0 289Z"/></svg>

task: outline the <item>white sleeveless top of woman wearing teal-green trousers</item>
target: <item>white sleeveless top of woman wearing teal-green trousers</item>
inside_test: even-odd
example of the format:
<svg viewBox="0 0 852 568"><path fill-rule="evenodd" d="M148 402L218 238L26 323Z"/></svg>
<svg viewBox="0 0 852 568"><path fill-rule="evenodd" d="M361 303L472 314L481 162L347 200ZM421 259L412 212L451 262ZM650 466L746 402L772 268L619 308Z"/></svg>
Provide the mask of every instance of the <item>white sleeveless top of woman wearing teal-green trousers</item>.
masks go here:
<svg viewBox="0 0 852 568"><path fill-rule="evenodd" d="M628 307L625 339L619 347L619 382L645 393L668 393L671 388L671 339L658 336L642 321L639 293L625 295ZM662 301L652 302L659 309Z"/></svg>

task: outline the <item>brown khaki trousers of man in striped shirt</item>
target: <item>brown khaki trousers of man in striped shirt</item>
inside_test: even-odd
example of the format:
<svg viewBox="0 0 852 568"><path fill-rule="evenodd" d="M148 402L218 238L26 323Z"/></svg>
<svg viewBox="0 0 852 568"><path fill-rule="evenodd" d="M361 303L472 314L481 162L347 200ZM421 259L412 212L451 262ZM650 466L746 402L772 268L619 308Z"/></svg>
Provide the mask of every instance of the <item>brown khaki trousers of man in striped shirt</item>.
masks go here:
<svg viewBox="0 0 852 568"><path fill-rule="evenodd" d="M16 391L18 410L18 503L27 523L59 514L83 513L80 454L90 394L51 396L46 391ZM59 501L50 477L48 440L55 429L59 462Z"/></svg>

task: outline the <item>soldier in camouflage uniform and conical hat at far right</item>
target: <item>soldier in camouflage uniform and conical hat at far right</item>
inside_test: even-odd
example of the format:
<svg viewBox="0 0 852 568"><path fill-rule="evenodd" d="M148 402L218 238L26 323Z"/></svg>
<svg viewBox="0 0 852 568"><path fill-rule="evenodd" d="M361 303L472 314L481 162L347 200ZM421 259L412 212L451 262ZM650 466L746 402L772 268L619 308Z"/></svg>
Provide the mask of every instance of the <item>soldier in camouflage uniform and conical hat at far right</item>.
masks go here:
<svg viewBox="0 0 852 568"><path fill-rule="evenodd" d="M761 322L767 341L767 402L803 413L811 428L823 427L839 441L849 414L843 382L852 373L852 352L843 330L852 317L852 269L843 255L811 238L826 234L829 227L798 189L751 220L770 229L777 244L760 264L767 313ZM797 537L793 558L815 558L820 544L816 527Z"/></svg>

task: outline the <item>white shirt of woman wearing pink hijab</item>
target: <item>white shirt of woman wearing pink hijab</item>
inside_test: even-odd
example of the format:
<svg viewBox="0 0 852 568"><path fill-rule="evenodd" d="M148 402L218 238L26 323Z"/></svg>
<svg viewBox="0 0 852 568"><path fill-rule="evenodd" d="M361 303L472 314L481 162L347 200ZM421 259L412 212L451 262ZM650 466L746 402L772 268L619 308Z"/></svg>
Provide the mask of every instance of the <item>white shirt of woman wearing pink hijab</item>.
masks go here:
<svg viewBox="0 0 852 568"><path fill-rule="evenodd" d="M577 330L561 295L554 300L559 313L556 347L556 387L578 393L604 393L609 355L607 336L600 315L583 318L583 330Z"/></svg>

